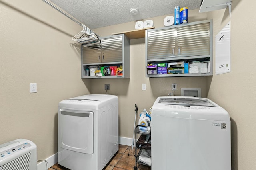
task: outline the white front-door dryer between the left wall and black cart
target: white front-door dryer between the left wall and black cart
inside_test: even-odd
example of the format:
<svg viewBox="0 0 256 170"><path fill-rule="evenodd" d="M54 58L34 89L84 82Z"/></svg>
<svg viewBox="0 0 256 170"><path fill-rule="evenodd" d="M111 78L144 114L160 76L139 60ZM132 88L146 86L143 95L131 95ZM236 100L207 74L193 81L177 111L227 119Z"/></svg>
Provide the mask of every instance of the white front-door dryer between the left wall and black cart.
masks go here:
<svg viewBox="0 0 256 170"><path fill-rule="evenodd" d="M102 170L118 151L118 97L92 94L58 106L58 164Z"/></svg>

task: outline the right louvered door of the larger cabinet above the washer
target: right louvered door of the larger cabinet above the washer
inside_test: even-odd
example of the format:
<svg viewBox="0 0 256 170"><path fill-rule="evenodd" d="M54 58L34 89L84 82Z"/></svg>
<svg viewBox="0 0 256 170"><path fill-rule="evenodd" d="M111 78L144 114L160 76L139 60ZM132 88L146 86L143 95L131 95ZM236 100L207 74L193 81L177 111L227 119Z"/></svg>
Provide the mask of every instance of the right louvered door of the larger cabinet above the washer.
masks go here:
<svg viewBox="0 0 256 170"><path fill-rule="evenodd" d="M176 57L210 55L210 23L176 28Z"/></svg>

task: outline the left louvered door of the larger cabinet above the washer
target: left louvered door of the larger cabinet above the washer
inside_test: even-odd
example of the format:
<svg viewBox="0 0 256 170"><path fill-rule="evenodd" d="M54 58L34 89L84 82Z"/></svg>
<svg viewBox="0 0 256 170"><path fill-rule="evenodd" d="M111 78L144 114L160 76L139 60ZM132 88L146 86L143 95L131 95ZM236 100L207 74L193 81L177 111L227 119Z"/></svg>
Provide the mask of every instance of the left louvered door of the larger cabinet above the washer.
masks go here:
<svg viewBox="0 0 256 170"><path fill-rule="evenodd" d="M175 57L175 38L175 28L156 31L148 30L146 36L146 54L148 55L148 60Z"/></svg>

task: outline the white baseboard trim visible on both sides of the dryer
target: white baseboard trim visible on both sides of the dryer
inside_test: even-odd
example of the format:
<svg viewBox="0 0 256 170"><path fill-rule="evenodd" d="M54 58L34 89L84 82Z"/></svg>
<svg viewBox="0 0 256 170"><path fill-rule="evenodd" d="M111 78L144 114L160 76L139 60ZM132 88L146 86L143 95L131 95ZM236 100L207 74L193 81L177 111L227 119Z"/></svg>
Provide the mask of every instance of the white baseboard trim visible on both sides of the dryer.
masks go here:
<svg viewBox="0 0 256 170"><path fill-rule="evenodd" d="M119 137L119 144L132 146L132 138ZM51 166L53 166L54 164L56 164L58 162L58 153L53 154L49 158L46 158L46 161L48 162L48 168L50 168ZM46 170L46 163L44 161L39 162L37 164L37 170Z"/></svg>

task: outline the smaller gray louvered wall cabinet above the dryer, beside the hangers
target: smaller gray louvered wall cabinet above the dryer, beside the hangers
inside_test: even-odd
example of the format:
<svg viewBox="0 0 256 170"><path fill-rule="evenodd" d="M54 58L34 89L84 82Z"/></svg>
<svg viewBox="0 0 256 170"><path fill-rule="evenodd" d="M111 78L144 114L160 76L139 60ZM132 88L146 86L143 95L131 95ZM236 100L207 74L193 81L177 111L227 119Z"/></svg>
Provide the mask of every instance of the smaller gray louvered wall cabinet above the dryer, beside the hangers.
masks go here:
<svg viewBox="0 0 256 170"><path fill-rule="evenodd" d="M98 44L81 45L82 78L130 78L130 40L124 34L100 40ZM90 66L122 66L122 75L86 76Z"/></svg>

